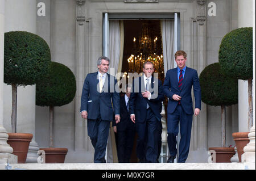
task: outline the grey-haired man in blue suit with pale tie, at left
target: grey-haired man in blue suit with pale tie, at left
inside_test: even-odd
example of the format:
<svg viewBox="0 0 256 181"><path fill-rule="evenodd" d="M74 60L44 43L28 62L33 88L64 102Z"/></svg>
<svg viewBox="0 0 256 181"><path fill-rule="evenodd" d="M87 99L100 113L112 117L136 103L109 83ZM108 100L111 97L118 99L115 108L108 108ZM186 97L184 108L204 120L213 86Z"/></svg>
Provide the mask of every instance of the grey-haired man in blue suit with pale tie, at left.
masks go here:
<svg viewBox="0 0 256 181"><path fill-rule="evenodd" d="M110 121L120 121L119 91L113 87L117 80L110 74L109 58L98 58L96 73L86 76L81 95L81 116L87 119L88 136L92 141L94 163L105 163L105 151L109 136ZM112 106L113 104L113 106Z"/></svg>

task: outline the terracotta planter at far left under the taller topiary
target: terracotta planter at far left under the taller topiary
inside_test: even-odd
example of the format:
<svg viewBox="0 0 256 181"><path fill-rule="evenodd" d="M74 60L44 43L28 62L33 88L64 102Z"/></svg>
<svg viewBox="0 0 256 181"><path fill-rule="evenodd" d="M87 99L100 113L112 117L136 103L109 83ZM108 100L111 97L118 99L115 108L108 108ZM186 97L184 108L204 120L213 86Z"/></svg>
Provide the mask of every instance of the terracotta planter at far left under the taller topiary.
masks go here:
<svg viewBox="0 0 256 181"><path fill-rule="evenodd" d="M13 148L13 154L18 156L18 163L26 163L28 146L33 134L30 133L8 133L7 143Z"/></svg>

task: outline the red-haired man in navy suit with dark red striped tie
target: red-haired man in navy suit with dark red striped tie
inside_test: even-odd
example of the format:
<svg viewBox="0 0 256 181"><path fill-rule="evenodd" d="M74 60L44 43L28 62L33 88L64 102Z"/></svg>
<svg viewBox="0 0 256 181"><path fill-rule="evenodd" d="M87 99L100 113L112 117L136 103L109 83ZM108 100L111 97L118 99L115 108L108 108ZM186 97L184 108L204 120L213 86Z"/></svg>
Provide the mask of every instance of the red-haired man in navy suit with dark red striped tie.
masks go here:
<svg viewBox="0 0 256 181"><path fill-rule="evenodd" d="M180 123L181 138L177 162L184 163L188 157L193 114L197 116L201 110L201 88L197 71L188 68L185 64L187 54L183 50L175 53L175 61L177 68L167 71L163 83L164 95L169 98L167 107L167 142L170 158L167 162L173 163L176 158L176 136L179 132ZM195 112L193 112L191 96L192 86L195 96Z"/></svg>

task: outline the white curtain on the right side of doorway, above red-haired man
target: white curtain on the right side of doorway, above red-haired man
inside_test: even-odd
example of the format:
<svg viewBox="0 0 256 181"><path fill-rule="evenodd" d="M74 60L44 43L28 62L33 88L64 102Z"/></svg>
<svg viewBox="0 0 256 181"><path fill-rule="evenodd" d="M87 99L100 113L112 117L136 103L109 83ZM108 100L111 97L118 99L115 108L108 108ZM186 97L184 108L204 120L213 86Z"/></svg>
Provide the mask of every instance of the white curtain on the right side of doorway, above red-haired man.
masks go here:
<svg viewBox="0 0 256 181"><path fill-rule="evenodd" d="M161 20L164 74L174 68L174 20Z"/></svg>

